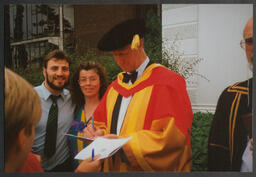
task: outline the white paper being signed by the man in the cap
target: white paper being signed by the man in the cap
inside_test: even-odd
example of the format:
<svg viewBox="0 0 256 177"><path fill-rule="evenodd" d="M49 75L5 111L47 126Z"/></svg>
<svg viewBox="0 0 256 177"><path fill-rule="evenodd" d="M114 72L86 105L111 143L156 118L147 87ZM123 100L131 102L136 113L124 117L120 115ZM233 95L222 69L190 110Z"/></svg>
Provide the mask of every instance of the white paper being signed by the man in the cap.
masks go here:
<svg viewBox="0 0 256 177"><path fill-rule="evenodd" d="M84 160L92 157L92 149L94 149L95 156L100 154L99 159L104 159L112 156L116 153L123 145L125 145L132 137L119 138L119 139L107 139L98 137L90 145L80 151L75 159Z"/></svg>

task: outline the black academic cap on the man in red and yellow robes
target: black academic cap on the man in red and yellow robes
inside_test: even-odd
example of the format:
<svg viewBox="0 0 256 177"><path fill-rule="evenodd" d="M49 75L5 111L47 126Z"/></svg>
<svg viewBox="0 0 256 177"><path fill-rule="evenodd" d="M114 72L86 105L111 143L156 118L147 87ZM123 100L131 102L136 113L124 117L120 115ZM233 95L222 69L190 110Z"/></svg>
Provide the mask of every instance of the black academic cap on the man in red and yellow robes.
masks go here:
<svg viewBox="0 0 256 177"><path fill-rule="evenodd" d="M144 37L145 21L143 19L129 19L115 25L105 33L98 42L98 49L102 51L113 51L131 44L133 36L138 34Z"/></svg>

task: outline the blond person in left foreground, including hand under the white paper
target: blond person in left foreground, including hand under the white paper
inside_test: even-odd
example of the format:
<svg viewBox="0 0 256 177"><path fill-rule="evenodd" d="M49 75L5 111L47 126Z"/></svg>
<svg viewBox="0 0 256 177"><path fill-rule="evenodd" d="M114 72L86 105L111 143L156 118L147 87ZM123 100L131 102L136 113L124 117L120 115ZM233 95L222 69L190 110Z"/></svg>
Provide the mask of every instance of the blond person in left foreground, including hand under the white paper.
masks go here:
<svg viewBox="0 0 256 177"><path fill-rule="evenodd" d="M43 172L31 152L35 126L41 118L41 100L22 77L5 69L5 172ZM96 156L95 159L99 158ZM84 160L76 172L100 171L99 160Z"/></svg>

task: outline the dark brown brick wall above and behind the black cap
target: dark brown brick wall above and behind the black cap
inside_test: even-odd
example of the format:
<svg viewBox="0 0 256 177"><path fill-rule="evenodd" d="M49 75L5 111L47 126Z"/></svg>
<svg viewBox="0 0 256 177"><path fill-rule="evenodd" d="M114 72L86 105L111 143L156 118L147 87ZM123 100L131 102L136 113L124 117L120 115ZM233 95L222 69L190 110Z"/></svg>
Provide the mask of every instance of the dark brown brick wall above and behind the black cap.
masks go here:
<svg viewBox="0 0 256 177"><path fill-rule="evenodd" d="M125 19L145 18L149 9L156 5L74 5L76 53L96 48L98 40L113 25Z"/></svg>

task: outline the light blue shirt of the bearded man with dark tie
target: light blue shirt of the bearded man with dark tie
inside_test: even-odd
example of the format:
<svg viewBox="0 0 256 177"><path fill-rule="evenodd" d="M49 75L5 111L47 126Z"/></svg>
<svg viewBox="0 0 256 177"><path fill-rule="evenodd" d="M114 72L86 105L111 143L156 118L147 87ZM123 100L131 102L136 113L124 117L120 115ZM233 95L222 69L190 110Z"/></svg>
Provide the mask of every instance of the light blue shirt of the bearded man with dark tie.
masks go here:
<svg viewBox="0 0 256 177"><path fill-rule="evenodd" d="M35 140L32 146L34 153L41 155L42 168L44 170L51 170L55 166L63 163L69 156L70 150L67 143L67 137L64 135L68 132L74 119L75 106L71 102L71 96L68 90L63 89L60 93L61 98L57 100L58 104L58 130L56 152L51 158L46 158L44 155L44 143L46 135L46 124L52 100L50 98L51 92L42 85L34 88L41 98L42 116L41 120L35 127Z"/></svg>

